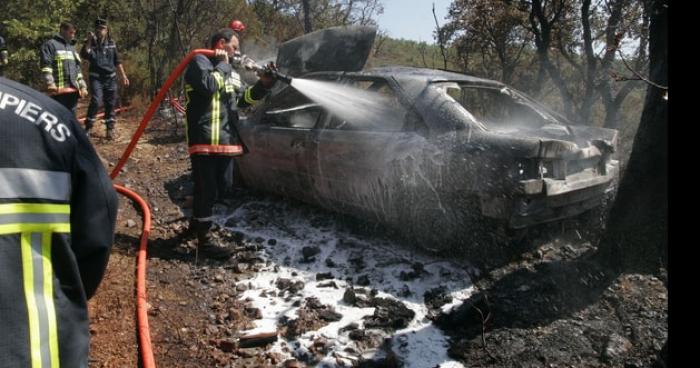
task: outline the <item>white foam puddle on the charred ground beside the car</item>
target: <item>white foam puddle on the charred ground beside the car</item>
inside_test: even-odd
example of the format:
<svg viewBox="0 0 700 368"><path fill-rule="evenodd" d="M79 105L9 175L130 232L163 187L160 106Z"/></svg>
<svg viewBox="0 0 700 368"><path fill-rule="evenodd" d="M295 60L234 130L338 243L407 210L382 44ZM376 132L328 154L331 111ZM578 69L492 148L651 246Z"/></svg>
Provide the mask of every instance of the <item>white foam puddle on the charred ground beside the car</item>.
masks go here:
<svg viewBox="0 0 700 368"><path fill-rule="evenodd" d="M366 288L378 290L378 297L401 301L416 314L407 328L394 332L391 337L392 350L403 360L405 367L463 367L447 356L447 337L426 318L428 309L423 302L423 294L443 286L454 299L443 309L459 305L473 290L466 267L415 254L385 239L351 234L338 229L339 225L326 217L327 214L309 214L308 209L294 208L281 202L258 201L248 202L223 218L222 223L235 222L236 226L229 227L231 230L250 238L277 241L275 245L266 244L261 252L262 258L269 261L267 266L252 279L241 281L248 287L241 298L249 300L262 312L262 319L255 321L256 328L242 331L242 335L277 330L281 317L298 317L296 312L299 307L294 306L295 302L298 305L301 301L303 305L305 298L316 297L322 304L333 306L342 319L309 331L296 340L287 341L280 337L270 351L286 357L303 357L314 340L323 337L330 348L317 364L318 367L352 366L359 357L347 351L361 353L365 359L380 358L385 355L384 351L362 351L362 347L349 338L347 331L339 332L353 322L362 328L362 317L374 312L374 308L353 307L342 301L343 293L350 285L346 278L356 281L357 277L366 275L369 278ZM319 225L319 218L323 218L320 221L322 225ZM302 248L310 246L318 247L320 253L313 261L307 262L302 257ZM359 271L355 268L358 258L364 262L364 268ZM327 259L331 259L335 266L328 267ZM410 272L416 262L423 264L426 272L421 277L402 281L402 272ZM333 280L316 281L317 273L327 272L333 274ZM269 292L278 291L275 282L279 278L304 282L300 296L285 300L286 295L269 295ZM338 288L318 287L328 281L334 281ZM410 294L406 293L407 290L410 290Z"/></svg>

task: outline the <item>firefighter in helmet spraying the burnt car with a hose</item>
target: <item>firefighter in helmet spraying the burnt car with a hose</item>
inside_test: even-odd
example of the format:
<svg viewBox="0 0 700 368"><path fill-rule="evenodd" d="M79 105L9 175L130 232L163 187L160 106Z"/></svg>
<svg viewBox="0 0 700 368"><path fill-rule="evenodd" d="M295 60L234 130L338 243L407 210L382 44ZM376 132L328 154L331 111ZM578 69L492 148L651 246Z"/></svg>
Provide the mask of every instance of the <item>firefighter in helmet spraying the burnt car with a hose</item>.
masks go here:
<svg viewBox="0 0 700 368"><path fill-rule="evenodd" d="M185 72L187 144L194 181L189 232L196 234L200 254L226 259L231 256L231 250L222 247L213 236L212 207L217 199L229 194L233 185L233 158L244 152L235 128L237 107L261 100L274 85L275 78L268 71L253 86L244 88L240 76L229 64L239 45L232 29L214 33L209 45L216 55L195 56Z"/></svg>

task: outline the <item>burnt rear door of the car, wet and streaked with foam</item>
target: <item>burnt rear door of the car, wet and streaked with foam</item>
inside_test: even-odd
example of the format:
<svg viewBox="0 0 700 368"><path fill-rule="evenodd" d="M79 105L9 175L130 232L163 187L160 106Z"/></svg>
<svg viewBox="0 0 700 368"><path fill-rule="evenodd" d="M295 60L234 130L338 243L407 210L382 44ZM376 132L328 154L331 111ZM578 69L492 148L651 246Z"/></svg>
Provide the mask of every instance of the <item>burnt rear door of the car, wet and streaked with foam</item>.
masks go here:
<svg viewBox="0 0 700 368"><path fill-rule="evenodd" d="M373 115L358 121L331 112L325 119L318 132L318 170L313 180L319 201L343 212L393 222L406 188L402 171L414 171L422 161L426 140L417 132L425 126L401 104L386 80L346 82L376 96L385 111L358 106L374 111Z"/></svg>

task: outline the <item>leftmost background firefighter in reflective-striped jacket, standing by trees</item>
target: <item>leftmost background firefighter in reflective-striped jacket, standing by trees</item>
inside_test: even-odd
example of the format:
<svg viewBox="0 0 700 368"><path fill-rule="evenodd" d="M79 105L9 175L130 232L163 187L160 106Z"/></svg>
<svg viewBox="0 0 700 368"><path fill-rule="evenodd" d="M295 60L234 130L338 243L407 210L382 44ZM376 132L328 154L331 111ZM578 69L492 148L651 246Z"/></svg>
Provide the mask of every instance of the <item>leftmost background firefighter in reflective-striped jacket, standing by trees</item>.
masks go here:
<svg viewBox="0 0 700 368"><path fill-rule="evenodd" d="M59 33L44 42L40 52L46 91L74 114L78 98L87 97L87 85L80 71L80 56L73 47L75 31L75 25L62 22Z"/></svg>

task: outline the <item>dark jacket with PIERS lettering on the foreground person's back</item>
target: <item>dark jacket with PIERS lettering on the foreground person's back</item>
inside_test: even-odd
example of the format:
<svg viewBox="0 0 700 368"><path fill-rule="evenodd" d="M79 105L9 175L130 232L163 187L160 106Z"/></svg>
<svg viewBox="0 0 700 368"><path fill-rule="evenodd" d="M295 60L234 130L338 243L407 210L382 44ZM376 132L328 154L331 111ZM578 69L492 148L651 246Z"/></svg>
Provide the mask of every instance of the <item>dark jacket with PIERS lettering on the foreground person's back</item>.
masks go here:
<svg viewBox="0 0 700 368"><path fill-rule="evenodd" d="M0 77L0 367L87 367L117 198L75 116Z"/></svg>

